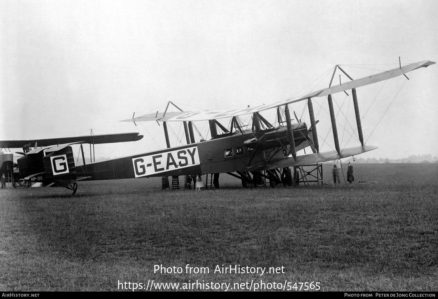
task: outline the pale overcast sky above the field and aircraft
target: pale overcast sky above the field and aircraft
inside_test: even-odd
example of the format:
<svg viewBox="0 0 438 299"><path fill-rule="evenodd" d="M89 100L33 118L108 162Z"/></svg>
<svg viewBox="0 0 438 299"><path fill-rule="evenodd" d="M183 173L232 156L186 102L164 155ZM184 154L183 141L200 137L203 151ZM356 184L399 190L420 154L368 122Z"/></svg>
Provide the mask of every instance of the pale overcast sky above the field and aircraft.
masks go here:
<svg viewBox="0 0 438 299"><path fill-rule="evenodd" d="M96 146L96 156L164 148L156 122L118 121L166 101L184 110L280 101L328 86L336 64L353 65L343 69L360 78L397 67L399 56L402 63L437 61L437 3L2 0L0 139L93 129L145 135L136 143ZM366 144L379 147L362 157L438 156L438 65L407 76L357 89ZM341 147L357 146L350 139L351 95L345 96L334 95L335 110L343 108L339 139ZM321 151L334 148L326 102L314 99L320 144L327 136ZM292 108L308 122L306 107ZM262 115L274 122L272 112ZM171 125L171 143L184 144L173 132L181 139L179 123Z"/></svg>

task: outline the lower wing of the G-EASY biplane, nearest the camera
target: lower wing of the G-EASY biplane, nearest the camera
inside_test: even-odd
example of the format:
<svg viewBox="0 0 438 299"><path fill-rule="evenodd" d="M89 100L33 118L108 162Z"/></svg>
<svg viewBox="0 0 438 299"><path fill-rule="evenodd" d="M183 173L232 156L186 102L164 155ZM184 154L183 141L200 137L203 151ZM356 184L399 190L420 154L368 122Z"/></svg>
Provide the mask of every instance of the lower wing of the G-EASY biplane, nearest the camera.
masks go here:
<svg viewBox="0 0 438 299"><path fill-rule="evenodd" d="M336 151L324 152L324 153L312 153L303 156L298 156L297 161L295 161L293 158L276 159L271 161L271 163L269 163L268 165L263 165L262 163L258 163L253 167L251 167L251 171L261 171L261 170L276 169L283 167L293 167L300 165L322 163L322 162L337 160L341 158L348 158L350 156L355 156L360 153L365 153L373 149L377 149L377 146L350 147L347 149L343 149L340 155L338 155Z"/></svg>

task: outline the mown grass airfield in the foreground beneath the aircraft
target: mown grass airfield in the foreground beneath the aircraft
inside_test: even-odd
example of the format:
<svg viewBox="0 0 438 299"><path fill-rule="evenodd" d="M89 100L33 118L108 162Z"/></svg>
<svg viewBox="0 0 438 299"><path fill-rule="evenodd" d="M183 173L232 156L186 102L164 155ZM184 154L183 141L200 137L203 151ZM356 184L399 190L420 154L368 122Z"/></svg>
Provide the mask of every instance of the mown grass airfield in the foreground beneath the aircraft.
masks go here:
<svg viewBox="0 0 438 299"><path fill-rule="evenodd" d="M74 198L61 188L0 190L0 291L108 291L152 279L438 291L438 165L355 164L356 182L378 184L336 187L324 167L329 184L308 188L243 189L222 174L221 189L207 191L162 191L160 179L83 182ZM183 273L154 274L155 264ZM214 273L230 264L284 273Z"/></svg>

